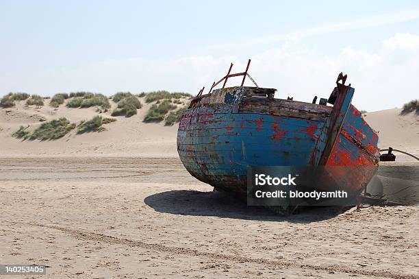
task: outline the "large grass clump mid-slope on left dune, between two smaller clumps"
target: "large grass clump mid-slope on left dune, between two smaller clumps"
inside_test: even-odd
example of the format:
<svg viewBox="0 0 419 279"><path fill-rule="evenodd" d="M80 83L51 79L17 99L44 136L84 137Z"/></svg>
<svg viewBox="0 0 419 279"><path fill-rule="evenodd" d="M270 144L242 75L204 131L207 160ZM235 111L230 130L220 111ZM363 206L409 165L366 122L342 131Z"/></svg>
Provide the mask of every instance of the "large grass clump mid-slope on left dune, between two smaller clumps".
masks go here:
<svg viewBox="0 0 419 279"><path fill-rule="evenodd" d="M62 138L75 127L75 123L70 123L65 117L61 117L42 123L28 138L30 140L39 139L40 141L55 140Z"/></svg>

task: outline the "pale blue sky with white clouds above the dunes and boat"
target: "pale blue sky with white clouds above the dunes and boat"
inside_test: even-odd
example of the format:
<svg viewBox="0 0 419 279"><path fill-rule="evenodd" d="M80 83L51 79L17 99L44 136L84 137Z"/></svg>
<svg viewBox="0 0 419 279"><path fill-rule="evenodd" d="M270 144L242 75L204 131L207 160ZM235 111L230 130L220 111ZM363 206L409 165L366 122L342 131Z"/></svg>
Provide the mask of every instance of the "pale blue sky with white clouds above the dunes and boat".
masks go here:
<svg viewBox="0 0 419 279"><path fill-rule="evenodd" d="M344 71L359 108L401 106L419 96L419 2L0 0L0 95L196 93L247 58L277 97L327 97Z"/></svg>

